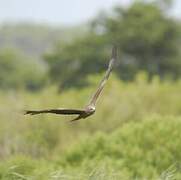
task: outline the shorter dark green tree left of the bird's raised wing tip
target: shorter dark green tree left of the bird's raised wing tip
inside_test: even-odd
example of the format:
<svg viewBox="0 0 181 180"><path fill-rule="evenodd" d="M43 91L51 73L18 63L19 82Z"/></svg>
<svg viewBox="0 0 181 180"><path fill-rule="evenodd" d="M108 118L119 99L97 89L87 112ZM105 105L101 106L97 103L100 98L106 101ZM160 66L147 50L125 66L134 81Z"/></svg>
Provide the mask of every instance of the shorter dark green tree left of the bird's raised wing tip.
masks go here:
<svg viewBox="0 0 181 180"><path fill-rule="evenodd" d="M106 48L104 38L90 34L68 45L57 46L53 53L46 54L44 58L54 82L61 82L60 86L64 88L81 86L85 85L87 75L107 68L106 55L110 55L105 53Z"/></svg>

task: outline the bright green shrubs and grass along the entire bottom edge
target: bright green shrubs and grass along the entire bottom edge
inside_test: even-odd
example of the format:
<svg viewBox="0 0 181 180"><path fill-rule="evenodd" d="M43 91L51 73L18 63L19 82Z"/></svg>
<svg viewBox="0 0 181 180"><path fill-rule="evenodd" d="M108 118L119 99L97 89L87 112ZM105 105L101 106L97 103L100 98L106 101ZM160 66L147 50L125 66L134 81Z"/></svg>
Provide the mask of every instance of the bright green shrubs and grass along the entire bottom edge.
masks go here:
<svg viewBox="0 0 181 180"><path fill-rule="evenodd" d="M181 118L152 116L76 139L51 161L11 157L2 179L180 179Z"/></svg>

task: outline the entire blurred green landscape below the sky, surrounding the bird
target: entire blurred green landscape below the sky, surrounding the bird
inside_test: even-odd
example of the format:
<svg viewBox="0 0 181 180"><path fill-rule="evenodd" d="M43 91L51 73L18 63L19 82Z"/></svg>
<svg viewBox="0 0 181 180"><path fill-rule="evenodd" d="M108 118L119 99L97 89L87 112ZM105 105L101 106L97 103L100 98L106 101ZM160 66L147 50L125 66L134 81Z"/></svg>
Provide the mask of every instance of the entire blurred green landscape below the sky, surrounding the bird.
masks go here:
<svg viewBox="0 0 181 180"><path fill-rule="evenodd" d="M181 179L181 21L175 2L132 1L81 25L0 26L0 179ZM81 5L80 5L81 6ZM94 116L81 108L118 60Z"/></svg>

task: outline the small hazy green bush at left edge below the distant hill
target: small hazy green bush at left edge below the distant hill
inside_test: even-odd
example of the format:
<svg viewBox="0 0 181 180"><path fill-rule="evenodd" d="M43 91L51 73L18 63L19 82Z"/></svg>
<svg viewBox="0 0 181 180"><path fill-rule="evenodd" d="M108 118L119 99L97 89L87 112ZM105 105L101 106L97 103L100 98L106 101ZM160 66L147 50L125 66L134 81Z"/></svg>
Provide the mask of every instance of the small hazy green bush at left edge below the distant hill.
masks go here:
<svg viewBox="0 0 181 180"><path fill-rule="evenodd" d="M45 84L46 67L20 52L4 49L0 52L0 88L36 90Z"/></svg>

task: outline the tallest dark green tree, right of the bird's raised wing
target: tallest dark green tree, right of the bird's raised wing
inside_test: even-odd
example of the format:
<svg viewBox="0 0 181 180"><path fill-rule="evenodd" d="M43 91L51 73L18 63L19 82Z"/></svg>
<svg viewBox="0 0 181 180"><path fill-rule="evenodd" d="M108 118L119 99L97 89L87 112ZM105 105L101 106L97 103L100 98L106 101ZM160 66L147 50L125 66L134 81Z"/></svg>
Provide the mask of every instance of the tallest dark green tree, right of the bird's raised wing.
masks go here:
<svg viewBox="0 0 181 180"><path fill-rule="evenodd" d="M116 7L113 17L105 17L101 25L111 42L117 42L123 56L119 74L133 77L139 70L161 77L180 74L178 25L156 3L135 2L128 9ZM132 73L132 74L131 74Z"/></svg>

